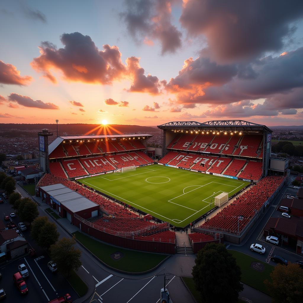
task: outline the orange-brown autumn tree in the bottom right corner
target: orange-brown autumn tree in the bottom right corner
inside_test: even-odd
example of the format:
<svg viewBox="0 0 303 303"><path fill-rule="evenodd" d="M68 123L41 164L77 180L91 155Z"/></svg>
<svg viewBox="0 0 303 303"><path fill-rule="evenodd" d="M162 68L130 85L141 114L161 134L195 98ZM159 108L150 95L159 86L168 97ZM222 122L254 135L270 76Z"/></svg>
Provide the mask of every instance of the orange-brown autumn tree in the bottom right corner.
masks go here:
<svg viewBox="0 0 303 303"><path fill-rule="evenodd" d="M299 265L278 264L270 274L272 281L264 283L275 303L295 303L303 298L303 270ZM299 301L298 301L299 300Z"/></svg>

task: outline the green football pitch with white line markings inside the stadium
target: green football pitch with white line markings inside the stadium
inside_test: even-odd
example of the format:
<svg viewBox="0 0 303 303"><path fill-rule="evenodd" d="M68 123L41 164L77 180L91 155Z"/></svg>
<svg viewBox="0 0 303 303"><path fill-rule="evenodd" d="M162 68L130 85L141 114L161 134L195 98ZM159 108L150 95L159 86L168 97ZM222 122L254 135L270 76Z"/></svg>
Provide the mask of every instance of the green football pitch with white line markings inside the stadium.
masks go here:
<svg viewBox="0 0 303 303"><path fill-rule="evenodd" d="M157 164L78 181L177 227L214 208L215 196L230 197L249 184Z"/></svg>

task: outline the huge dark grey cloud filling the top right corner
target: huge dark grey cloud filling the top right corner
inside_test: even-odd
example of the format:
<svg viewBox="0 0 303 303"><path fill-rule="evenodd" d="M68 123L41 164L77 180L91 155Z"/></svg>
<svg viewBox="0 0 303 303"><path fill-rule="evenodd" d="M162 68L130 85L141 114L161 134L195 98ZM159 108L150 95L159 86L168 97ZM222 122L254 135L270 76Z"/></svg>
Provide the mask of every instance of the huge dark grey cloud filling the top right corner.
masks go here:
<svg viewBox="0 0 303 303"><path fill-rule="evenodd" d="M184 1L181 25L190 35L205 35L212 55L221 60L255 57L278 51L302 18L303 2Z"/></svg>

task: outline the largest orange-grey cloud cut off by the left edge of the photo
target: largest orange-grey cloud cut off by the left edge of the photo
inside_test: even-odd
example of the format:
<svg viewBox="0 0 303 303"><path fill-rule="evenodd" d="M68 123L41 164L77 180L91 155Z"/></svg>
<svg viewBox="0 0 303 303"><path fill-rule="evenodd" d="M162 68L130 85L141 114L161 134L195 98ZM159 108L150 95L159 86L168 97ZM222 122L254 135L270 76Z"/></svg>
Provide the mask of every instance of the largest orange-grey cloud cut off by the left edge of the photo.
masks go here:
<svg viewBox="0 0 303 303"><path fill-rule="evenodd" d="M27 85L32 81L30 76L20 76L20 71L9 63L4 63L0 60L0 83L3 84L17 84L17 85Z"/></svg>

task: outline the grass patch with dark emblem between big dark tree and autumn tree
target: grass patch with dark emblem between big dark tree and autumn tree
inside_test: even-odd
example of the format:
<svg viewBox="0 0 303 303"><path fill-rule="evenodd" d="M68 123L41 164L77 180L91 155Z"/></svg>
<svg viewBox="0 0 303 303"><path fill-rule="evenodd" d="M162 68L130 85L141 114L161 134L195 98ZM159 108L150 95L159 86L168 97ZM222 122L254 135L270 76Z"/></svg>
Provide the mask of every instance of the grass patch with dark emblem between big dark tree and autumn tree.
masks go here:
<svg viewBox="0 0 303 303"><path fill-rule="evenodd" d="M230 253L236 258L237 264L241 268L242 278L241 282L270 295L267 290L264 280L268 279L271 281L270 273L274 267L265 262L259 261L249 255L243 254L242 252L229 250ZM251 268L251 262L259 262L264 265L264 271L257 271Z"/></svg>

